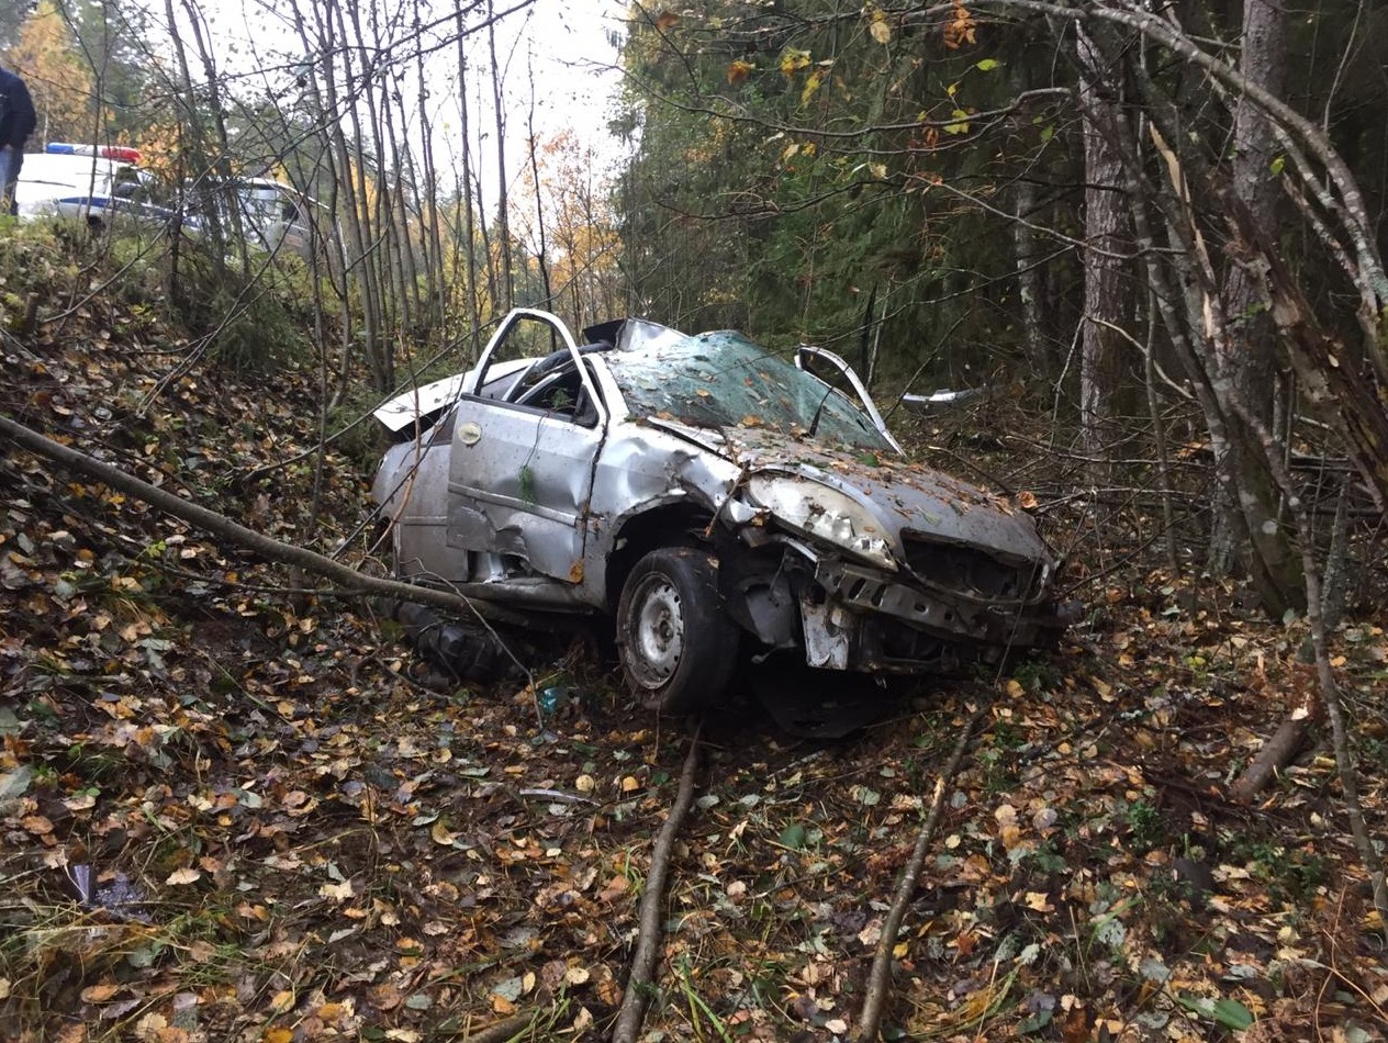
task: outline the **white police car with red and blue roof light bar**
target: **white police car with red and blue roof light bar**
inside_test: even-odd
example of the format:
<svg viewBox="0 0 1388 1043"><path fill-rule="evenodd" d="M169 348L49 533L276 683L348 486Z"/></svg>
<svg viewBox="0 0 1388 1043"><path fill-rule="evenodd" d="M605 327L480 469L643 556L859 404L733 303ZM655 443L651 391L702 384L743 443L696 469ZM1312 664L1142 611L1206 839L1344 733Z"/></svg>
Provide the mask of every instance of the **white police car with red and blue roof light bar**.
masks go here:
<svg viewBox="0 0 1388 1043"><path fill-rule="evenodd" d="M175 212L158 204L158 183L126 146L53 143L24 157L15 204L22 219L68 218L93 229L115 219L165 226Z"/></svg>

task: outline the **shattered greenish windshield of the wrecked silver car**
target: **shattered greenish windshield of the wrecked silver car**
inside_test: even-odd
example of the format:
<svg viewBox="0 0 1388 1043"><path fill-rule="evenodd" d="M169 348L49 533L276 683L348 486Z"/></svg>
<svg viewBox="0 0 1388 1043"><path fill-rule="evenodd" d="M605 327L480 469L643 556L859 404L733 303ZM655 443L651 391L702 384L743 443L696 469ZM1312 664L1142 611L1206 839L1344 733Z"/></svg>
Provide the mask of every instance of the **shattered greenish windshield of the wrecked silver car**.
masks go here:
<svg viewBox="0 0 1388 1043"><path fill-rule="evenodd" d="M633 416L891 448L841 393L740 333L701 333L607 361Z"/></svg>

